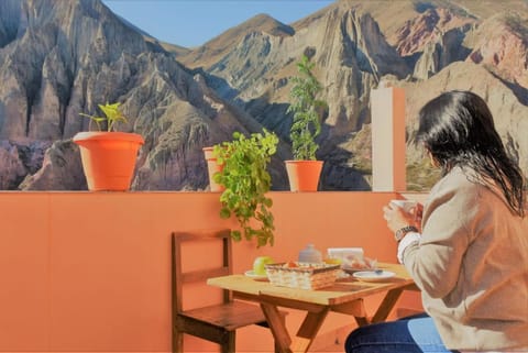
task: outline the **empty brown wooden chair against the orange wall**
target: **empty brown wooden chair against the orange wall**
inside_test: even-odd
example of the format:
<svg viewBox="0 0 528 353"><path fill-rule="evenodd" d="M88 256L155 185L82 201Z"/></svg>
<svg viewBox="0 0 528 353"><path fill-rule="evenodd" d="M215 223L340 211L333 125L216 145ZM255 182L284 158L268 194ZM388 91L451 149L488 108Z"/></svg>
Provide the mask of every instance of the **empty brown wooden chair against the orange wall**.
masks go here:
<svg viewBox="0 0 528 353"><path fill-rule="evenodd" d="M183 269L182 244L186 242L221 242L222 264L215 268L186 272ZM186 254L190 255L190 254ZM211 266L213 266L212 264ZM261 308L233 300L232 293L223 290L223 302L184 310L183 286L205 283L209 277L232 274L232 245L230 230L208 232L173 232L172 234L172 300L173 352L182 353L184 334L191 334L220 344L222 353L235 352L237 329L250 324L267 327ZM211 290L213 290L211 288ZM275 349L277 350L277 349Z"/></svg>

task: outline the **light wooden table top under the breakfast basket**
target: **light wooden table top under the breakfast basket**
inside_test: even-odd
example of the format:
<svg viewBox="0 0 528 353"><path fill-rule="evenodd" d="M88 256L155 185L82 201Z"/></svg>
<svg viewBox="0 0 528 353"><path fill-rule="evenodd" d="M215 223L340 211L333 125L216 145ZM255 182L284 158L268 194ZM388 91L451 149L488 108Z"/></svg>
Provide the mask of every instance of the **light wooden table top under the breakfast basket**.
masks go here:
<svg viewBox="0 0 528 353"><path fill-rule="evenodd" d="M381 263L378 267L384 271L394 272L396 276L375 283L362 282L350 276L338 278L332 286L317 290L279 287L272 285L267 279L255 279L245 275L215 277L209 278L207 283L211 286L230 289L249 296L266 295L323 306L337 306L376 293L385 293L391 289L414 285L413 278L407 274L403 265Z"/></svg>

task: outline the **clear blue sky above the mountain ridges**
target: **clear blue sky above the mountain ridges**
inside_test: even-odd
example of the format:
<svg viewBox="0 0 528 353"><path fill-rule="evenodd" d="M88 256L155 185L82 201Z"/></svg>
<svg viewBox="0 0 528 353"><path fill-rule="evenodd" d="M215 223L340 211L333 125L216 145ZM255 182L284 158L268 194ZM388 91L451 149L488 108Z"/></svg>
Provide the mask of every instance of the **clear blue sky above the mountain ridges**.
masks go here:
<svg viewBox="0 0 528 353"><path fill-rule="evenodd" d="M332 0L102 0L114 13L160 41L199 46L258 13L292 23Z"/></svg>

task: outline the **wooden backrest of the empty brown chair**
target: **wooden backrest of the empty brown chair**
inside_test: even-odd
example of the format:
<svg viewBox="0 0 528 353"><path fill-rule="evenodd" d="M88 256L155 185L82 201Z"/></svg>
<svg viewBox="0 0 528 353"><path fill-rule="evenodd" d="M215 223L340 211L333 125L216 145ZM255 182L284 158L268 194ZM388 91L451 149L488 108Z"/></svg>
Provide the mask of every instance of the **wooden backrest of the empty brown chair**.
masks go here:
<svg viewBox="0 0 528 353"><path fill-rule="evenodd" d="M186 269L184 257L193 257L194 254L185 254L185 244L194 243L205 246L209 243L210 249L221 247L221 260L218 263L209 263L200 268ZM213 244L219 243L219 244ZM209 249L209 247L208 247ZM196 250L196 249L195 249ZM211 251L211 250L209 250ZM218 251L218 250L217 250ZM209 255L209 254L208 254ZM209 231L178 231L172 234L172 287L174 313L182 312L184 306L184 285L205 283L207 278L227 276L233 273L231 231L229 229ZM232 300L232 294L223 290L223 302Z"/></svg>

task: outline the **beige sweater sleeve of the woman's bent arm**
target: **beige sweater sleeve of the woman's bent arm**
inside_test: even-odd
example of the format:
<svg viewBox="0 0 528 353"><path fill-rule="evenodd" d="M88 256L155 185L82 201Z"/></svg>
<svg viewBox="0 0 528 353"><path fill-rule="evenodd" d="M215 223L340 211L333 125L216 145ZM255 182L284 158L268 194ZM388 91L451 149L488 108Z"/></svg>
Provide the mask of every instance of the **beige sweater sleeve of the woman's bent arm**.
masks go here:
<svg viewBox="0 0 528 353"><path fill-rule="evenodd" d="M432 298L442 298L455 287L471 239L479 192L463 181L443 180L431 190L424 209L420 242L403 252L405 267Z"/></svg>

